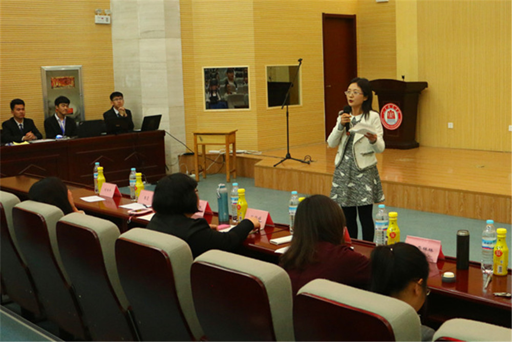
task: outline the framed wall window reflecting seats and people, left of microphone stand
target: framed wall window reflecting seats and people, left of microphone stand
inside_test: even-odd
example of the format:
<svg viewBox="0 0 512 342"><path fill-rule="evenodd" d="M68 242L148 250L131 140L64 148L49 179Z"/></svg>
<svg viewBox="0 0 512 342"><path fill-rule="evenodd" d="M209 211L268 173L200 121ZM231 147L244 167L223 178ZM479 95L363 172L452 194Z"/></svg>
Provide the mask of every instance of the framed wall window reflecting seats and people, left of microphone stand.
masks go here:
<svg viewBox="0 0 512 342"><path fill-rule="evenodd" d="M249 68L203 68L204 109L249 109Z"/></svg>

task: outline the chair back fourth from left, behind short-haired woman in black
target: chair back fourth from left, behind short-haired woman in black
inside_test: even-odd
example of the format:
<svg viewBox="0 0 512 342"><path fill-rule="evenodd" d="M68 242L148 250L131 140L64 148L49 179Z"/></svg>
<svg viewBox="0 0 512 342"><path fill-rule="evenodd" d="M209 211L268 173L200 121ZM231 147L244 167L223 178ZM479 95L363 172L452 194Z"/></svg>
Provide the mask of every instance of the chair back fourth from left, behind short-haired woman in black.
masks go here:
<svg viewBox="0 0 512 342"><path fill-rule="evenodd" d="M182 239L133 228L116 241L117 269L142 340L199 340L190 291L192 253Z"/></svg>

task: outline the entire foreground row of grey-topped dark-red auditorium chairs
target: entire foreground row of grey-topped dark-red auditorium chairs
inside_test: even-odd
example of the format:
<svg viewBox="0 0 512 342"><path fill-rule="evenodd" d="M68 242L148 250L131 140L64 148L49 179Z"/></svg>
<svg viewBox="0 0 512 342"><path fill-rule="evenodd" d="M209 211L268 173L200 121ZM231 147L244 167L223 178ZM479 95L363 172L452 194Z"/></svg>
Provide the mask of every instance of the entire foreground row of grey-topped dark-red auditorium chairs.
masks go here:
<svg viewBox="0 0 512 342"><path fill-rule="evenodd" d="M193 260L172 235L119 235L108 220L0 196L5 291L78 338L420 340L418 315L398 299L325 279L293 299L279 266L218 250ZM447 321L436 335L493 340L489 331L510 337L510 329L467 320Z"/></svg>

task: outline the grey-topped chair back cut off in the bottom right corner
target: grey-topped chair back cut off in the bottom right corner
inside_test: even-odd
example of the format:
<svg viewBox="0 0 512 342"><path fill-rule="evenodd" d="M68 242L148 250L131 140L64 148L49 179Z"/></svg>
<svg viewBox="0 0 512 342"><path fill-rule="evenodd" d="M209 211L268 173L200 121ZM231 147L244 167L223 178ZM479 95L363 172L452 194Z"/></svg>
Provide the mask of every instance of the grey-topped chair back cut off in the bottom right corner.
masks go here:
<svg viewBox="0 0 512 342"><path fill-rule="evenodd" d="M435 332L434 341L510 341L512 330L471 319L453 318Z"/></svg>

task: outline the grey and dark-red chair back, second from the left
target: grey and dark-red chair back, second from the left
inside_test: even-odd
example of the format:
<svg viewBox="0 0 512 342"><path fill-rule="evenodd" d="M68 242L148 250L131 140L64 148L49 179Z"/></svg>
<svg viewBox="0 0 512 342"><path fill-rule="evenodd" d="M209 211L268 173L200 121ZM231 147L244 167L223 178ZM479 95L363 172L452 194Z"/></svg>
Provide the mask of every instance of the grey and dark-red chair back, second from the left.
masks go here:
<svg viewBox="0 0 512 342"><path fill-rule="evenodd" d="M55 225L62 216L59 208L32 200L12 209L19 248L27 260L47 318L75 337L88 340L90 337L57 247Z"/></svg>

